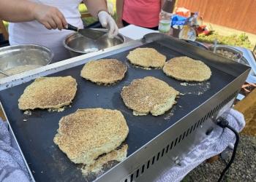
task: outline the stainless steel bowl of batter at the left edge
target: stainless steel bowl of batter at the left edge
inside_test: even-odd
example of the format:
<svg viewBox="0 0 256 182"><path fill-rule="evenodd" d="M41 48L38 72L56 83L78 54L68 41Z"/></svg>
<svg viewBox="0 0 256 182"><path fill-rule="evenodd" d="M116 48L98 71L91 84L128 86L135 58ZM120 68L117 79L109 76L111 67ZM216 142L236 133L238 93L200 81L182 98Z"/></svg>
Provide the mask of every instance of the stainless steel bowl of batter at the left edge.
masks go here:
<svg viewBox="0 0 256 182"><path fill-rule="evenodd" d="M25 65L48 65L53 60L53 52L34 44L13 45L0 48L0 70Z"/></svg>

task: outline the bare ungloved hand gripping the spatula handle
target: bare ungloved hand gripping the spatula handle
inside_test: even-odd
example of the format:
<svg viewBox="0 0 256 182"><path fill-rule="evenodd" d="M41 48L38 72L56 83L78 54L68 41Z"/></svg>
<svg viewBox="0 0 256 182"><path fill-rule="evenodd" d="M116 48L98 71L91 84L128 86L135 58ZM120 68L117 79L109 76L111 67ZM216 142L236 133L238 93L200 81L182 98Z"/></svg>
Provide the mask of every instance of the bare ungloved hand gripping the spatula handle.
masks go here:
<svg viewBox="0 0 256 182"><path fill-rule="evenodd" d="M63 27L67 28L67 21L62 13L56 7L50 7L44 4L37 4L33 9L34 19L51 30Z"/></svg>

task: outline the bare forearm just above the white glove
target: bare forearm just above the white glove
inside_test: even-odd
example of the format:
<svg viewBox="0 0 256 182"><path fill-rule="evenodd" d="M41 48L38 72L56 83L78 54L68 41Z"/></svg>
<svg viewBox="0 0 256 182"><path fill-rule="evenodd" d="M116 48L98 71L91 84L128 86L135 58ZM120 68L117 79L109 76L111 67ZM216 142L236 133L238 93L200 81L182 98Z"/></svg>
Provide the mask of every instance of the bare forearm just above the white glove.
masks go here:
<svg viewBox="0 0 256 182"><path fill-rule="evenodd" d="M88 11L95 18L98 18L99 10L105 10L108 12L105 0L83 0L83 3L86 4Z"/></svg>

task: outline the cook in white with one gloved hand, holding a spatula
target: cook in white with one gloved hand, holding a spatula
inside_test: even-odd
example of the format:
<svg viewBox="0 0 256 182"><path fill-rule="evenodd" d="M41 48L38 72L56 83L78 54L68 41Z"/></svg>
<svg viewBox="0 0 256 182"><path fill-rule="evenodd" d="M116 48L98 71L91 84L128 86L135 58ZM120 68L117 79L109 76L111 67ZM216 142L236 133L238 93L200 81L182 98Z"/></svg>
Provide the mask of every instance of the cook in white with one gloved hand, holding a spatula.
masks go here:
<svg viewBox="0 0 256 182"><path fill-rule="evenodd" d="M0 19L10 22L11 45L38 44L48 47L54 53L53 62L56 62L70 58L62 41L71 31L63 27L67 28L69 23L83 28L78 9L80 2L81 0L0 0ZM83 2L91 15L110 30L110 38L118 34L118 27L108 13L105 0Z"/></svg>

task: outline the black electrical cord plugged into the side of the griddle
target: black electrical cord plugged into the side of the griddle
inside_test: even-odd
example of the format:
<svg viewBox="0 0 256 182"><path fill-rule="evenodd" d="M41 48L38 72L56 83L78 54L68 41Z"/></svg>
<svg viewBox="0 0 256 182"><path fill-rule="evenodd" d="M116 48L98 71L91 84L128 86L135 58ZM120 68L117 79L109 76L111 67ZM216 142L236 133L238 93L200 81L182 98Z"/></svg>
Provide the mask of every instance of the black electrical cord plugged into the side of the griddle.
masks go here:
<svg viewBox="0 0 256 182"><path fill-rule="evenodd" d="M233 127L230 127L230 125L228 125L228 122L227 120L225 119L220 119L219 122L217 123L217 125L219 127L222 127L222 128L225 128L227 127L228 129L230 129L231 131L233 131L236 135L236 143L235 143L235 146L234 146L234 149L233 149L233 154L232 154L232 157L230 159L230 162L228 162L227 166L225 167L225 169L222 171L222 175L220 175L219 177L219 180L218 182L222 181L222 178L223 176L225 175L225 173L227 172L228 168L230 167L230 165L232 165L235 157L236 157L236 150L237 150L237 147L238 147L238 143L239 143L239 135L238 135L238 132L236 132L236 130L233 128Z"/></svg>

